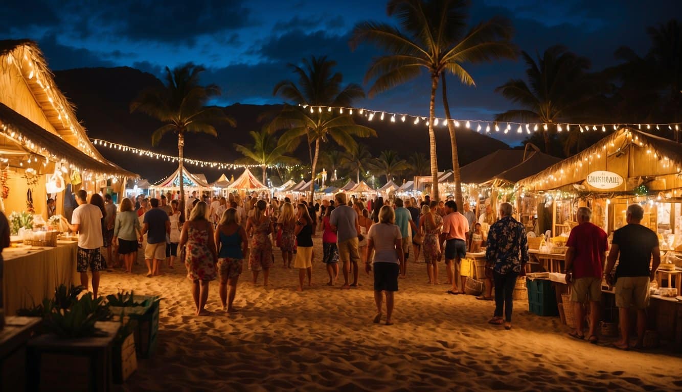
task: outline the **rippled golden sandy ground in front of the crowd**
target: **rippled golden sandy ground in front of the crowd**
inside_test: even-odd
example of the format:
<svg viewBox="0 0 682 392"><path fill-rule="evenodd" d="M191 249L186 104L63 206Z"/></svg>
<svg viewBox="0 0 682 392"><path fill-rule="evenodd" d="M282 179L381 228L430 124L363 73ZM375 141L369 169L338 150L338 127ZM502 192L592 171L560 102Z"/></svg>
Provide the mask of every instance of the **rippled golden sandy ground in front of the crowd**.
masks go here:
<svg viewBox="0 0 682 392"><path fill-rule="evenodd" d="M372 277L362 287L327 287L316 242L313 287L297 293L297 270L284 269L279 250L272 286L242 274L235 307L220 310L211 282L210 316L194 316L183 265L146 278L102 276L103 295L119 289L162 295L159 348L122 391L672 391L682 388L679 356L624 352L566 336L558 317L514 308L514 327L488 325L493 304L447 295L426 285L424 263L409 263L396 293L395 325L372 323ZM262 284L262 277L260 278ZM441 275L441 280L445 276ZM670 375L677 374L677 375Z"/></svg>

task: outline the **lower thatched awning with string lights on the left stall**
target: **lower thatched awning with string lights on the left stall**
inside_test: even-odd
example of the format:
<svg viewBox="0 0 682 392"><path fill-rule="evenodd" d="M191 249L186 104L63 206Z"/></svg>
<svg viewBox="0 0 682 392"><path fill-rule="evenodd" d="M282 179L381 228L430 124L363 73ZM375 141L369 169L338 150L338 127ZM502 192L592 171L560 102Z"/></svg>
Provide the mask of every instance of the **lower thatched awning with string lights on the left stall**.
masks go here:
<svg viewBox="0 0 682 392"><path fill-rule="evenodd" d="M68 161L78 169L101 174L137 177L137 174L123 170L109 161L100 162L93 159L61 137L46 131L28 118L14 112L4 103L0 103L0 122L2 125L8 126L5 132L10 133L10 135L14 132L20 134L24 143L30 142L35 145L30 148L31 150L38 150L44 157L52 158L53 161ZM15 137L19 137L19 135L15 135Z"/></svg>

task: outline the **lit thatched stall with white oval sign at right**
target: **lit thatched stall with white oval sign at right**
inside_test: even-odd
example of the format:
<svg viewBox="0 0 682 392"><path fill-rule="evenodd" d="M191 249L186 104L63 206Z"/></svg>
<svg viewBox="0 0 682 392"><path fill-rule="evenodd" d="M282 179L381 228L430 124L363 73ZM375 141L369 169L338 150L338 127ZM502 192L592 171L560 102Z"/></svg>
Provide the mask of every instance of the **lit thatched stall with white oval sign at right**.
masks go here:
<svg viewBox="0 0 682 392"><path fill-rule="evenodd" d="M682 144L621 128L587 150L516 184L520 219L549 212L545 251L565 252L580 206L607 233L626 225L632 203L644 208L642 225L659 236L662 268L682 267ZM543 211L545 210L545 211ZM669 280L669 279L668 279ZM680 293L678 293L680 294Z"/></svg>

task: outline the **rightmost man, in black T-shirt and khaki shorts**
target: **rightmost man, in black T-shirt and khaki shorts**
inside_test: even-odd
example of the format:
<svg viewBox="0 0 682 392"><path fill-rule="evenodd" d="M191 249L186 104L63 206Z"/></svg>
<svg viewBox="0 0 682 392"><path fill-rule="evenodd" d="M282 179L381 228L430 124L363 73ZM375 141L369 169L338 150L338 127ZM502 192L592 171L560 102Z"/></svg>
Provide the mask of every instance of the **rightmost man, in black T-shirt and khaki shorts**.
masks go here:
<svg viewBox="0 0 682 392"><path fill-rule="evenodd" d="M637 343L635 348L642 348L644 332L647 331L647 308L649 307L649 282L653 280L656 269L661 263L661 252L658 236L640 222L644 217L644 208L639 204L627 206L625 221L627 225L613 232L611 251L606 263L606 279L613 284L615 279L616 306L619 310L621 341L614 347L628 350L629 342L629 308L637 310ZM651 269L649 269L649 261ZM612 269L619 260L614 277Z"/></svg>

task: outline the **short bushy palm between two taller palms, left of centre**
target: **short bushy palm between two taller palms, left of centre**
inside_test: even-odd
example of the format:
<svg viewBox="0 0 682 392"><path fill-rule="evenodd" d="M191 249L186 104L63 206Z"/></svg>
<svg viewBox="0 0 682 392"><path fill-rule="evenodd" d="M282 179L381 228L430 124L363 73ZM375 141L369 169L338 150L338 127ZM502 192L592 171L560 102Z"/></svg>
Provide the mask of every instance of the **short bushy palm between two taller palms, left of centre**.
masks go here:
<svg viewBox="0 0 682 392"><path fill-rule="evenodd" d="M286 156L291 148L286 144L278 144L276 137L273 137L267 130L260 132L250 131L249 134L254 140L254 144L243 146L235 144L235 150L243 154L244 163L255 163L261 165L263 169L263 184L267 184L267 168L276 165L295 165L298 159Z"/></svg>

